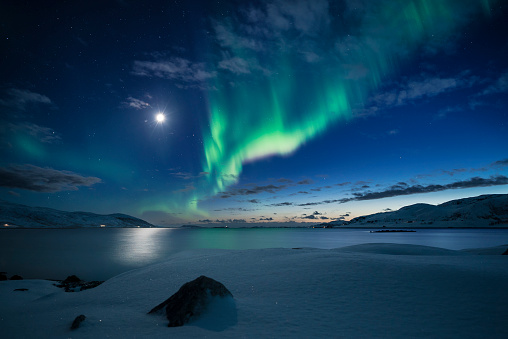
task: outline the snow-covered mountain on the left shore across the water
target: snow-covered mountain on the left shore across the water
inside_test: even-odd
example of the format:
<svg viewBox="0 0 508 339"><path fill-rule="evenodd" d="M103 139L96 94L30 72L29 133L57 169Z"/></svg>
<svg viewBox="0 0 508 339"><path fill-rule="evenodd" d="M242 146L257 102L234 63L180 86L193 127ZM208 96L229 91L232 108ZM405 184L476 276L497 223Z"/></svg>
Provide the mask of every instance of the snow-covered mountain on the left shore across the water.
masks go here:
<svg viewBox="0 0 508 339"><path fill-rule="evenodd" d="M88 212L64 212L45 207L30 207L0 200L0 227L71 228L71 227L154 227L126 214L101 215Z"/></svg>

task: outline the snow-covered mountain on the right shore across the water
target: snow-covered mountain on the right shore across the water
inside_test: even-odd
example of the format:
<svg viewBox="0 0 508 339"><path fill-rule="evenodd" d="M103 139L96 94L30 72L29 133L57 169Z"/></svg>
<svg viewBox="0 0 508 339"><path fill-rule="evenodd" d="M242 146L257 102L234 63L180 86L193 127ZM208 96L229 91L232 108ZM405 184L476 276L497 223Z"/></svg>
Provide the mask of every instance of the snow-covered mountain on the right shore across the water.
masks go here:
<svg viewBox="0 0 508 339"><path fill-rule="evenodd" d="M397 211L332 221L342 227L508 227L508 194L480 195L440 205L414 204Z"/></svg>

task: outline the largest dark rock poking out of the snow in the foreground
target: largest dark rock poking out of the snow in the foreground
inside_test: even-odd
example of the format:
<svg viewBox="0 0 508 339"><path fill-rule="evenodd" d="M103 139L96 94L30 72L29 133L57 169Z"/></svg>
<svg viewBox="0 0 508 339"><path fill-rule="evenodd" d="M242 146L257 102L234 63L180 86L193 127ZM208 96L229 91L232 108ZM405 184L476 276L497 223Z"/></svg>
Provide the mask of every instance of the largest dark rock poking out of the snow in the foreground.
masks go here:
<svg viewBox="0 0 508 339"><path fill-rule="evenodd" d="M206 310L211 297L233 297L220 282L204 275L187 282L169 299L155 306L150 313L158 313L166 308L169 327L182 326Z"/></svg>

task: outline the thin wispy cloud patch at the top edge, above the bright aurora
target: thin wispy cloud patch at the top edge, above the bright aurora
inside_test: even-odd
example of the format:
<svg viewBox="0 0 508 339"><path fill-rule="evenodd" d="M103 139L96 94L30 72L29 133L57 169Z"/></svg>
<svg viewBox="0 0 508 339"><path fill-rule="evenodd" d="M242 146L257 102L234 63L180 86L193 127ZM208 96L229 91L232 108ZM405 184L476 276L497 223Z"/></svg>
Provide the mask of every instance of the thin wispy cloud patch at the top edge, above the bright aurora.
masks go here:
<svg viewBox="0 0 508 339"><path fill-rule="evenodd" d="M315 37L327 32L330 23L327 0L275 0L261 6L250 4L240 8L228 21L214 21L212 26L223 50L232 54L239 50L254 52L252 60L224 58L219 67L235 74L257 69L269 75L266 56L281 51L292 52L307 63L319 62L322 56ZM295 35L299 37L297 43Z"/></svg>

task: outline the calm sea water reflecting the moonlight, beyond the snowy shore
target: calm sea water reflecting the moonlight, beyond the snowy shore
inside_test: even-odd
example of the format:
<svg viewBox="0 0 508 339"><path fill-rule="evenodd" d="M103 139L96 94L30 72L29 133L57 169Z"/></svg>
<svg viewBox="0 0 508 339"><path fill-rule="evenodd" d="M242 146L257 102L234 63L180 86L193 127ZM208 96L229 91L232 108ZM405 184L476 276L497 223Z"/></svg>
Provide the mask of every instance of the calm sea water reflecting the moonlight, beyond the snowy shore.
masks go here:
<svg viewBox="0 0 508 339"><path fill-rule="evenodd" d="M337 248L401 243L465 249L508 244L508 230L428 229L370 233L356 229L2 229L0 271L25 278L105 280L192 249Z"/></svg>

